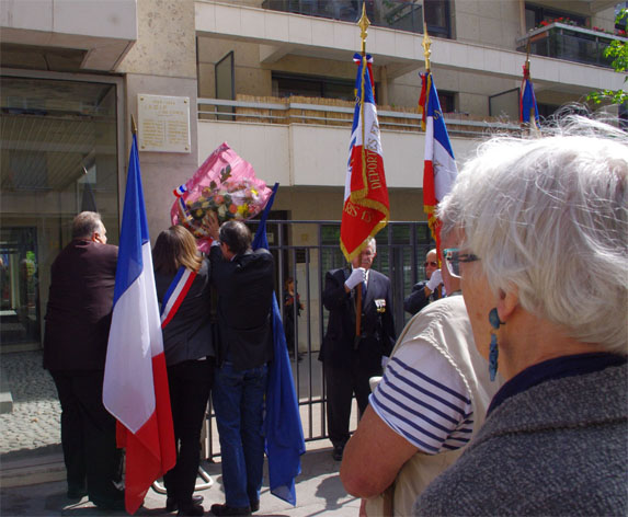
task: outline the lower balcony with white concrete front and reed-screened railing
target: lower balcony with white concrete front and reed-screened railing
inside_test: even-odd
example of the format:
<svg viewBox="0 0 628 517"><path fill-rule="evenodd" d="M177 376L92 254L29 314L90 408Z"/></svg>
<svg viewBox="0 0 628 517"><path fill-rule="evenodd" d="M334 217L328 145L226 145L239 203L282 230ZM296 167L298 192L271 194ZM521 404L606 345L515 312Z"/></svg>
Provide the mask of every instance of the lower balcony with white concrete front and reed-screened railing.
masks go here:
<svg viewBox="0 0 628 517"><path fill-rule="evenodd" d="M284 186L344 186L353 119L351 103L244 102L198 99L198 163L227 141L255 164L259 177ZM341 103L341 102L339 102ZM389 188L423 186L425 134L418 113L378 111ZM472 153L489 133L518 133L515 124L446 118L456 159ZM246 150L246 154L243 153Z"/></svg>

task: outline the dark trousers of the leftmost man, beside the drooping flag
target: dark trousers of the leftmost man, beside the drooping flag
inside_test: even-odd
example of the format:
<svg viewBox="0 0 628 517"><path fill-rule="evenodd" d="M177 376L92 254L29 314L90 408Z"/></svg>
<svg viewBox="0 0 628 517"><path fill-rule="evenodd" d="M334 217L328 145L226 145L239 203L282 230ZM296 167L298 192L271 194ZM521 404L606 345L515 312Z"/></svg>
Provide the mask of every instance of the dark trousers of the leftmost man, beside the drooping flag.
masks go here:
<svg viewBox="0 0 628 517"><path fill-rule="evenodd" d="M61 446L68 489L87 487L93 502L119 501L122 450L115 418L102 403L103 370L52 370L61 403Z"/></svg>

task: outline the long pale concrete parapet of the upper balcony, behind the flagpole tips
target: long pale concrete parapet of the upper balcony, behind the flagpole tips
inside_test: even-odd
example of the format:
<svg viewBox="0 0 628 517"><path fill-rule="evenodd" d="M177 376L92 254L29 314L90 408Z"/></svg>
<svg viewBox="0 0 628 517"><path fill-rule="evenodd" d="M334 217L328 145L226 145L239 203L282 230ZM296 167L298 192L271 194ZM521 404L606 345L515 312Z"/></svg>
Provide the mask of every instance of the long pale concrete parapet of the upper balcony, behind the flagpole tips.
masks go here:
<svg viewBox="0 0 628 517"><path fill-rule="evenodd" d="M207 0L196 0L194 5L198 35L256 43L262 66L272 67L288 54L350 62L361 48L359 28L355 23ZM432 39L431 61L435 73L453 70L521 81L525 56L519 51ZM385 66L388 79L393 80L424 68L422 43L421 34L372 26L366 47L375 64ZM623 77L613 70L540 56L532 61L535 85L543 88L567 88L572 93L586 94L623 85Z"/></svg>

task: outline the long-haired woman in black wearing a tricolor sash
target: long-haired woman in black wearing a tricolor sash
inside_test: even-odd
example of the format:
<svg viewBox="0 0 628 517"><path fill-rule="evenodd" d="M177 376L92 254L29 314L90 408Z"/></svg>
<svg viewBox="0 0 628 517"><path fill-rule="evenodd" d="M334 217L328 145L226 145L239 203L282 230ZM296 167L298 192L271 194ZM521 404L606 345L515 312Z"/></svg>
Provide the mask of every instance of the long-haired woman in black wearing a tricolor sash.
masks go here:
<svg viewBox="0 0 628 517"><path fill-rule="evenodd" d="M179 509L178 515L203 515L203 497L193 493L201 430L214 383L210 266L197 251L192 233L182 226L159 234L152 260L178 446L176 464L163 476L165 508Z"/></svg>

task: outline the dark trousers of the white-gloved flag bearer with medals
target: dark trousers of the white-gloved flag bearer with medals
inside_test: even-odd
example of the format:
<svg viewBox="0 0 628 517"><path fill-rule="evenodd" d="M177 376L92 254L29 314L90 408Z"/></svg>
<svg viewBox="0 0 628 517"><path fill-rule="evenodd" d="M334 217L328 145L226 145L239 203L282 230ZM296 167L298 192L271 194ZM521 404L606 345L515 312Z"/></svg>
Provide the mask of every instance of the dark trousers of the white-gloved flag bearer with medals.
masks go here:
<svg viewBox="0 0 628 517"><path fill-rule="evenodd" d="M366 369L358 361L351 367L338 367L329 361L324 363L324 379L327 383L327 423L329 439L336 446L344 446L349 440L349 421L353 394L357 401L359 417L368 405L370 387L368 379L381 375L379 369Z"/></svg>

